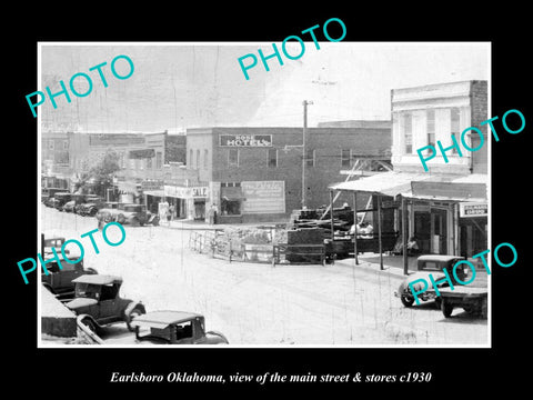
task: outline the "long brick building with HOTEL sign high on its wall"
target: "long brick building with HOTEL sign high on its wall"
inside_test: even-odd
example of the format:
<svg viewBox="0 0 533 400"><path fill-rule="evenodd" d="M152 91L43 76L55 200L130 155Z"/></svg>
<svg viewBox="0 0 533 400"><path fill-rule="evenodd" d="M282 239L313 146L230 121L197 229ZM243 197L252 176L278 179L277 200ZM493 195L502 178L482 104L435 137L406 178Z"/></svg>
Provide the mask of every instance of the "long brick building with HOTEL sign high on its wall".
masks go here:
<svg viewBox="0 0 533 400"><path fill-rule="evenodd" d="M284 220L300 209L302 133L282 127L189 129L187 166L205 182L204 197L194 200L197 218L213 206L221 222ZM360 158L390 161L390 147L391 129L382 123L308 128L305 206L328 204L328 186L344 180L340 171Z"/></svg>

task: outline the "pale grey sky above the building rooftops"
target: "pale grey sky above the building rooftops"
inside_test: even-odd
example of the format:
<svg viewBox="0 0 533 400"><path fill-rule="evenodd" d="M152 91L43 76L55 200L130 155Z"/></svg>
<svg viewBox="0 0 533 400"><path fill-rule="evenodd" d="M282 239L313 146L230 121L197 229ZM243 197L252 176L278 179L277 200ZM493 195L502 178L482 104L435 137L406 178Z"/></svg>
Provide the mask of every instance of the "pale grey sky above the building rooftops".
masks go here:
<svg viewBox="0 0 533 400"><path fill-rule="evenodd" d="M304 52L290 60L280 49L283 64L268 60L266 71L258 54L273 53L272 43L41 43L39 88L52 93L69 88L78 72L87 73L92 90L71 102L56 97L57 109L47 98L38 113L43 131L94 133L183 131L198 127L301 127L302 101L308 126L338 120L390 119L391 89L490 79L490 43L486 42L304 42ZM289 54L301 47L289 42ZM239 58L254 54L255 67L247 80ZM117 79L111 62L128 56L134 70ZM97 70L101 68L105 88ZM243 60L245 64L251 58ZM118 59L117 72L129 66ZM74 89L88 90L83 77ZM29 110L29 112L31 112Z"/></svg>

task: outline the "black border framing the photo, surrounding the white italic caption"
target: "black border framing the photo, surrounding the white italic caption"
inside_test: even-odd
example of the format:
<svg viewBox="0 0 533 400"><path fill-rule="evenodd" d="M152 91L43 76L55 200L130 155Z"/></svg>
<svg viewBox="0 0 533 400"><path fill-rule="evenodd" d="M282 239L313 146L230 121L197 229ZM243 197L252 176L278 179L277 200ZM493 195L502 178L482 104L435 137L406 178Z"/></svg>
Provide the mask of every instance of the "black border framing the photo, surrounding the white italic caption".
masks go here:
<svg viewBox="0 0 533 400"><path fill-rule="evenodd" d="M87 4L86 4L87 6ZM358 396L361 390L374 393L388 389L398 394L434 396L461 392L481 394L486 389L505 384L517 390L526 382L526 367L520 354L527 348L527 313L525 296L529 292L526 234L522 226L529 221L526 169L527 140L533 122L531 101L530 42L526 40L525 7L505 3L495 11L492 6L465 4L376 4L362 8L350 3L328 9L324 3L286 6L274 3L247 3L241 7L223 4L213 9L205 3L202 9L175 6L122 4L117 10L93 4L90 8L72 6L58 11L28 10L16 32L7 36L10 88L8 97L10 122L6 132L13 157L7 157L7 178L3 207L8 217L6 230L14 239L16 250L7 247L4 287L9 288L6 304L9 333L4 346L13 351L9 361L9 386L23 388L32 382L43 392L72 390L83 384L98 393L134 391L150 393L172 388L178 396L185 389L215 390L261 389L266 393L281 390L296 394L311 391L315 394L344 390ZM162 9L170 7L168 9ZM132 9L135 8L135 9ZM37 290L36 280L24 286L17 261L32 257L37 248L37 120L28 112L24 96L37 90L38 41L268 41L280 42L286 36L322 24L329 18L340 18L348 28L345 41L491 41L492 42L492 116L502 116L509 109L519 109L526 119L520 134L503 133L500 142L492 142L492 234L493 248L501 242L513 243L519 262L509 269L493 268L493 347L492 349L37 349ZM6 106L4 106L6 107ZM22 189L22 190L20 190ZM521 190L522 189L522 190ZM11 211L13 210L13 211ZM9 249L9 250L8 250ZM523 311L522 311L523 310ZM524 360L527 362L527 360ZM109 383L111 372L143 371L163 373L171 371L203 373L381 373L401 374L409 371L431 372L430 383L419 384L117 384ZM62 393L62 392L61 392Z"/></svg>

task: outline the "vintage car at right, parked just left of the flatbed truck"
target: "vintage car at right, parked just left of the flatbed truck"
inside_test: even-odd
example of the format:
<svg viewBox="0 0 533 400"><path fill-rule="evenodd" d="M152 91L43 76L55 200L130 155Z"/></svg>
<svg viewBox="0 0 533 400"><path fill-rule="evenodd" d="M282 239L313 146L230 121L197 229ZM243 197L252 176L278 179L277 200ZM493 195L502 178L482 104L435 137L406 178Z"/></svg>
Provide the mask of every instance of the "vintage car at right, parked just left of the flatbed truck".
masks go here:
<svg viewBox="0 0 533 400"><path fill-rule="evenodd" d="M434 281L440 281L442 278L445 278L444 269L447 271L452 282L454 282L453 277L453 266L460 260L464 260L464 257L460 256L445 256L445 254L425 254L420 256L416 260L415 273L410 274L401 284L394 296L399 297L403 306L411 307L414 302L413 293L409 287L409 283L414 282L418 279L424 279L428 282L428 290L419 294L419 300L430 301L435 299L436 306L440 307L440 299L435 297L434 291L431 291L432 283L430 280L430 274L433 276ZM459 279L464 280L467 276L467 267L461 266L455 271ZM459 284L459 283L457 283ZM449 286L446 282L440 283L439 288ZM414 290L422 290L423 283L419 282L413 286Z"/></svg>

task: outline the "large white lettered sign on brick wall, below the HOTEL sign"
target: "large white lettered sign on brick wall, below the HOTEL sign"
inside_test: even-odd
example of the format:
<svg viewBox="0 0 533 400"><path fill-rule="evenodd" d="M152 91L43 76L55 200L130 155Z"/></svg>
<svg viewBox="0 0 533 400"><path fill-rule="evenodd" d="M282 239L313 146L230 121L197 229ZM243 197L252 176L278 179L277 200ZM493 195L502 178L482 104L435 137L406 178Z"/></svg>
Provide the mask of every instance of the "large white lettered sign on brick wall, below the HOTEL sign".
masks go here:
<svg viewBox="0 0 533 400"><path fill-rule="evenodd" d="M284 181L249 181L241 182L242 213L284 213Z"/></svg>

